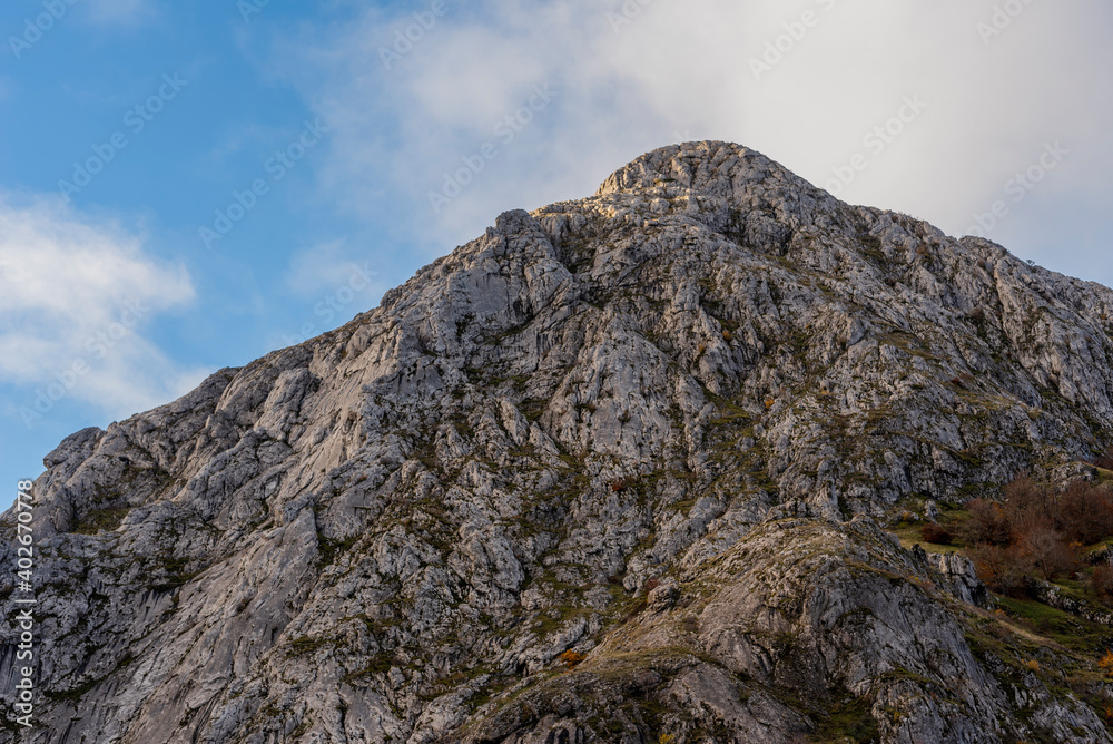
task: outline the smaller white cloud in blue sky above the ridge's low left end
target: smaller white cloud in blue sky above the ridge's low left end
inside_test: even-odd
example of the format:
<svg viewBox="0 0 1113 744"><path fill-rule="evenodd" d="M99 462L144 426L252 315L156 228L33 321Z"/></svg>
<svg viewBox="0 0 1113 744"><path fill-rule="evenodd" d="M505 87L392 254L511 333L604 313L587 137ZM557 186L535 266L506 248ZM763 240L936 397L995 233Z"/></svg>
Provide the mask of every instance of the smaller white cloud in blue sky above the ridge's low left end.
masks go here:
<svg viewBox="0 0 1113 744"><path fill-rule="evenodd" d="M0 196L0 382L24 420L63 399L122 417L186 392L145 329L194 298L189 275L144 252L142 238L57 199Z"/></svg>

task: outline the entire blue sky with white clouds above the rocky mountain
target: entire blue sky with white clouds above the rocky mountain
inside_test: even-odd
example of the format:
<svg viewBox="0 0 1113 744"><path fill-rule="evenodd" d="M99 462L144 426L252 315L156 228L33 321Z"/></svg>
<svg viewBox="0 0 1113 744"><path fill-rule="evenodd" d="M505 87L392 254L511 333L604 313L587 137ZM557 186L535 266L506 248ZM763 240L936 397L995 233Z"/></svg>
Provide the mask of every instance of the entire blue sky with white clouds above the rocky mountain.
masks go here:
<svg viewBox="0 0 1113 744"><path fill-rule="evenodd" d="M9 0L0 483L720 139L1113 285L1103 0Z"/></svg>

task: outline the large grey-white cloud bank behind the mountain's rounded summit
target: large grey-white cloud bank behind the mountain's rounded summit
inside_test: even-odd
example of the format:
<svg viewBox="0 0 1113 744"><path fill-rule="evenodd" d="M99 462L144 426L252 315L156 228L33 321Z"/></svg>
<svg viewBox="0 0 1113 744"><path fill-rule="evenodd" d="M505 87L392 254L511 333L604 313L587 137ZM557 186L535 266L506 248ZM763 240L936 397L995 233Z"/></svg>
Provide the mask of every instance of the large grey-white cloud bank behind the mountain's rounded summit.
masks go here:
<svg viewBox="0 0 1113 744"><path fill-rule="evenodd" d="M382 50L413 22L408 11L375 10L277 48L293 60L286 77L334 127L326 179L336 198L356 214L411 215L413 233L439 252L499 211L591 193L678 131L754 147L821 186L866 154L841 198L958 234L1045 143L1061 140L1072 157L991 235L1023 241L1045 200L1107 193L1113 106L1099 91L1113 69L1102 38L1113 13L1100 0L1032 3L986 42L977 25L997 4L492 0L470 9L450 0L390 70ZM623 7L641 11L615 32ZM805 12L814 16L801 35ZM756 76L752 60L769 43L786 51ZM495 125L544 82L558 98L502 144ZM864 137L906 96L927 108L884 151L867 149ZM427 193L487 141L498 158L434 214ZM1104 271L1097 249L1085 248L1080 265L1090 275Z"/></svg>

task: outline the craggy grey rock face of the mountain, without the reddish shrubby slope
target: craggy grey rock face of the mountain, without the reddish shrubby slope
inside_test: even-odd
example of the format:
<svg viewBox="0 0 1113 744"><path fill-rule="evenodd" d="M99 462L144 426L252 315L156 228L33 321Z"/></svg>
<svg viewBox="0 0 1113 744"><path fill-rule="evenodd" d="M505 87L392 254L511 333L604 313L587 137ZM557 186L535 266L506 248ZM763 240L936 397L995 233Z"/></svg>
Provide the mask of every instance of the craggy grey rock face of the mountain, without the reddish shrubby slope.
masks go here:
<svg viewBox="0 0 1113 744"><path fill-rule="evenodd" d="M0 742L1113 741L967 562L874 522L1091 457L1111 315L742 147L657 150L47 456L40 725Z"/></svg>

